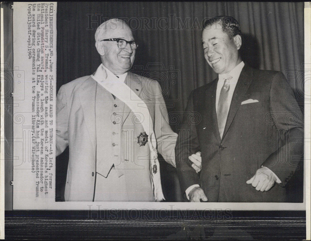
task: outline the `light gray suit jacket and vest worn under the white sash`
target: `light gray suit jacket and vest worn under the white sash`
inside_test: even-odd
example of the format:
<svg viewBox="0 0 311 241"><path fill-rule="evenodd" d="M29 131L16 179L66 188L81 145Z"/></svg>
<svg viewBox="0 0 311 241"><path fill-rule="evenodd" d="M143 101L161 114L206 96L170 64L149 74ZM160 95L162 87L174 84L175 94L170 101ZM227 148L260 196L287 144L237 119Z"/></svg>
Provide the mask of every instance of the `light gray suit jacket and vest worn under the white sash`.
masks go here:
<svg viewBox="0 0 311 241"><path fill-rule="evenodd" d="M159 83L131 72L125 83L146 103L153 120L158 152L175 166L177 134L169 126ZM153 193L150 149L148 142L138 143L138 137L144 132L139 118L91 76L73 80L59 89L56 125L57 155L69 145L66 201L92 201L96 176L101 170L108 172L100 175L109 175L110 166L103 167L110 165L111 160L119 175L126 177L124 185L131 192L125 194L128 201L150 200Z"/></svg>

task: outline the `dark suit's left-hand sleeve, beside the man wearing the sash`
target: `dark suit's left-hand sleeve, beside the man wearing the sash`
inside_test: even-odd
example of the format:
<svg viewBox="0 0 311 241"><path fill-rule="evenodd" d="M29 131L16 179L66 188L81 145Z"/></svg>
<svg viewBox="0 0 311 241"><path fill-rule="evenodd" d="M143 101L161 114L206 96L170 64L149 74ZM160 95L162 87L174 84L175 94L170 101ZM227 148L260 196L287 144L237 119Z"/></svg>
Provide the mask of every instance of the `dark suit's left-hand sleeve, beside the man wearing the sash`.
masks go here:
<svg viewBox="0 0 311 241"><path fill-rule="evenodd" d="M192 162L188 158L191 154L200 151L197 130L192 121L194 116L195 112L193 110L192 92L189 96L187 107L183 113L183 120L178 131L176 146L177 173L183 193L188 187L199 184L199 176L192 168Z"/></svg>

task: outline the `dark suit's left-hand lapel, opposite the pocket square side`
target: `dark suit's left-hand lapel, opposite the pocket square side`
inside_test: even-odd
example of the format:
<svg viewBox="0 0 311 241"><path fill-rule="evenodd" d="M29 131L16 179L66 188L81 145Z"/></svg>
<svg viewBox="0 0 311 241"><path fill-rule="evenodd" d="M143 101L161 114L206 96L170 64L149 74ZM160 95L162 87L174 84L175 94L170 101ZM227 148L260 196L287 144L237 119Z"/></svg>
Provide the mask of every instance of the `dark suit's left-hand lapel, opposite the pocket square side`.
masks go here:
<svg viewBox="0 0 311 241"><path fill-rule="evenodd" d="M205 119L206 126L211 126L215 137L221 142L220 134L218 130L217 115L216 115L216 88L218 77L211 83L211 86L205 91Z"/></svg>

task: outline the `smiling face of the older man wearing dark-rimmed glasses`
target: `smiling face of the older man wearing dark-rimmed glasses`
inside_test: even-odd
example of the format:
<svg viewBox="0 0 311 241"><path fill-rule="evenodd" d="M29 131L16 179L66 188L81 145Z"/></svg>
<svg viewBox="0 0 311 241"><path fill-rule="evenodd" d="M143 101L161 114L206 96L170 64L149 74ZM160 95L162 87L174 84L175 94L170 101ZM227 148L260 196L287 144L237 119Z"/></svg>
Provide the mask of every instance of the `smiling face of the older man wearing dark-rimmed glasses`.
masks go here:
<svg viewBox="0 0 311 241"><path fill-rule="evenodd" d="M127 41L134 40L132 30L121 22L114 23L104 32L102 39L122 38ZM130 44L124 49L118 48L116 41L97 41L96 48L101 55L103 65L115 75L122 75L131 69L135 50L132 50Z"/></svg>

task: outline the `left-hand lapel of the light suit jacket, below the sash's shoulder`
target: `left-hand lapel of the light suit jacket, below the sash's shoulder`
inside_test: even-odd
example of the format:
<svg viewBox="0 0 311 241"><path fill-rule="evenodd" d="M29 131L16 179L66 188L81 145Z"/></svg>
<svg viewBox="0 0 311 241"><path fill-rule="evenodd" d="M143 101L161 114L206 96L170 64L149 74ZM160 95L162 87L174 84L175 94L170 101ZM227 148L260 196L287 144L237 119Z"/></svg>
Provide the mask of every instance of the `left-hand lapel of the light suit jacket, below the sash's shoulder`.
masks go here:
<svg viewBox="0 0 311 241"><path fill-rule="evenodd" d="M83 109L84 121L90 136L93 151L95 152L95 97L96 97L96 81L89 77L81 84L79 99Z"/></svg>

